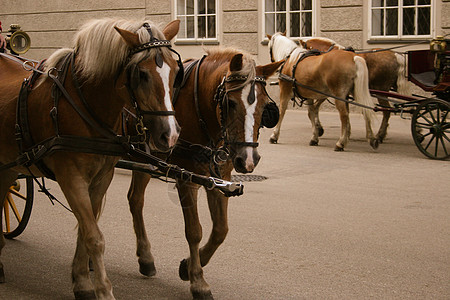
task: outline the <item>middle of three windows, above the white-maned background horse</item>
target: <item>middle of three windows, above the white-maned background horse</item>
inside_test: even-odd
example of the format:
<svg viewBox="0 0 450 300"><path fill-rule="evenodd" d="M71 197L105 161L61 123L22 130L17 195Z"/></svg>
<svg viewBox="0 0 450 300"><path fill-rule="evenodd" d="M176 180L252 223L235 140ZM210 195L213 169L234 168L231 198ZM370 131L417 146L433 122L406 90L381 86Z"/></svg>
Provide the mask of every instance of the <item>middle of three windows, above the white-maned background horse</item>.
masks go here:
<svg viewBox="0 0 450 300"><path fill-rule="evenodd" d="M284 32L290 37L313 35L315 0L265 0L265 34Z"/></svg>

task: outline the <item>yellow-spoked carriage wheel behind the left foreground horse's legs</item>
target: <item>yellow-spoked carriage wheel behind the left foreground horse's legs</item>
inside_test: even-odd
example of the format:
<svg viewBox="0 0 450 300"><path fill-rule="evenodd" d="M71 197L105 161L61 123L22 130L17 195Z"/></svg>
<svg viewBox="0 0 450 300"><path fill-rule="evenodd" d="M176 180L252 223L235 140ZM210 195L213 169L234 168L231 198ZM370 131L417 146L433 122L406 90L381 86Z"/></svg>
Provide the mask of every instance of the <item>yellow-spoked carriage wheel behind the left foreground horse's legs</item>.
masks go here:
<svg viewBox="0 0 450 300"><path fill-rule="evenodd" d="M2 222L2 230L6 238L15 238L25 230L33 207L33 196L33 178L31 177L19 177L9 188Z"/></svg>

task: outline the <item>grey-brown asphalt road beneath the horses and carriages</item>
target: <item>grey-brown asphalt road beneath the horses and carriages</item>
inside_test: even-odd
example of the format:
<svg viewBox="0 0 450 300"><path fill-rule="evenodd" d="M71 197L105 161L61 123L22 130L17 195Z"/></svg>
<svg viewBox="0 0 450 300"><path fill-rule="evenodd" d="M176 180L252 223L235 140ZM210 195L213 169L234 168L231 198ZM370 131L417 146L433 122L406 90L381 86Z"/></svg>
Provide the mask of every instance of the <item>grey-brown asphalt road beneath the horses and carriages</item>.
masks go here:
<svg viewBox="0 0 450 300"><path fill-rule="evenodd" d="M304 111L288 111L279 144L261 132L260 165L268 177L245 182L229 206L230 231L205 278L215 299L450 299L450 161L425 158L410 121L393 117L376 151L363 120L351 115L352 139L334 152L339 118L321 114L325 134L308 146ZM100 226L105 264L117 299L190 299L178 278L188 253L173 185L152 182L145 216L157 274L138 272L126 193L118 170ZM51 192L65 202L55 183ZM210 230L200 193L204 234ZM7 282L0 299L73 299L70 268L75 218L38 193L25 232L2 253Z"/></svg>

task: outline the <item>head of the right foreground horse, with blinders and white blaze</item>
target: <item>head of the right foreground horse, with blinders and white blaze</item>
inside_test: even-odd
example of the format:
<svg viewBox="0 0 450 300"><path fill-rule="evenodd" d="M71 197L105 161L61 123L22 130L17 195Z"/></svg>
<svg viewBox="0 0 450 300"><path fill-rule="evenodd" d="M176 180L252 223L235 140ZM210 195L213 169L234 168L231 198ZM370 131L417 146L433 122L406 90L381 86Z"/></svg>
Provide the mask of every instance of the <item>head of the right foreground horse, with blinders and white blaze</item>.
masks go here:
<svg viewBox="0 0 450 300"><path fill-rule="evenodd" d="M240 53L230 61L223 82L225 98L219 106L225 143L237 172L253 172L261 158L257 150L259 130L278 122L278 108L265 84L282 62L256 66L253 59Z"/></svg>

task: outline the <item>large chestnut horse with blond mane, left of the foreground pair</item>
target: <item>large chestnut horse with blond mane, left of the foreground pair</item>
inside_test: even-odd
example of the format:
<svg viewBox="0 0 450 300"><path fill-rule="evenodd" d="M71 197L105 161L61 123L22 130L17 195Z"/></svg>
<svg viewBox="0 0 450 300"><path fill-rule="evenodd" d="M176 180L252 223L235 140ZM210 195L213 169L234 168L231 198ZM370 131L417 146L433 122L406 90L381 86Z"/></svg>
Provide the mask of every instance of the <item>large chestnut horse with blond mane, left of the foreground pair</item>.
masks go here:
<svg viewBox="0 0 450 300"><path fill-rule="evenodd" d="M73 48L54 52L43 71L25 63L34 72L22 89L28 72L17 58L0 56L0 211L19 173L57 181L78 221L76 299L114 299L97 220L114 166L129 149L131 137L121 135L123 107L138 112L141 141L150 148L168 151L178 138L170 102L181 65L170 42L178 29L179 21L161 30L149 20L91 20ZM2 231L0 251L4 246Z"/></svg>

